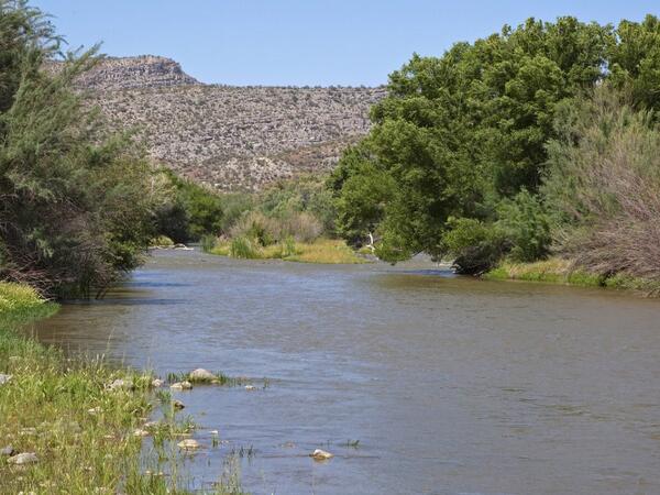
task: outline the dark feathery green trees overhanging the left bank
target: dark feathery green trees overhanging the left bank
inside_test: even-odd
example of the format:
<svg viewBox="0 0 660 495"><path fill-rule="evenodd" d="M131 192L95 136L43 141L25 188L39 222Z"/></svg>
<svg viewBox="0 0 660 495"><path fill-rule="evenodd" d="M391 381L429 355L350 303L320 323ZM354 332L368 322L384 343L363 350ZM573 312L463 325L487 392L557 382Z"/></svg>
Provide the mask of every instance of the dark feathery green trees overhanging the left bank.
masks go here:
<svg viewBox="0 0 660 495"><path fill-rule="evenodd" d="M85 295L140 263L156 191L141 151L70 90L94 51L42 70L59 47L38 10L0 2L0 278Z"/></svg>

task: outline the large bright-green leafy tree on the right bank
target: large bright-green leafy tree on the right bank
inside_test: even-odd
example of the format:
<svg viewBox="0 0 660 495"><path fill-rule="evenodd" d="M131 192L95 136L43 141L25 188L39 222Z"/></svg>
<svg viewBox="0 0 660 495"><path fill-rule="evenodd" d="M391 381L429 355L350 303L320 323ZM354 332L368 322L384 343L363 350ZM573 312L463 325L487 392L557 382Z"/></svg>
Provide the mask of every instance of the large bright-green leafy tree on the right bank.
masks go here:
<svg viewBox="0 0 660 495"><path fill-rule="evenodd" d="M447 254L457 242L444 237L464 224L457 219L487 228L513 211L503 206L519 204L519 195L525 205L535 204L546 146L557 138L553 123L566 101L608 77L631 87L644 105L658 101L658 32L652 16L640 24L624 21L616 30L571 16L530 19L472 44L458 43L442 57L414 55L391 75L388 96L372 111L373 129L362 143L370 153L360 158L369 166L342 160L334 172L338 204L358 215L352 224L365 224L361 220L371 212L353 199L352 184L380 170L392 185L378 209L383 257ZM534 217L541 215L535 210ZM525 239L528 245L518 248L547 252L542 230L534 229L534 243ZM348 235L355 237L354 230Z"/></svg>

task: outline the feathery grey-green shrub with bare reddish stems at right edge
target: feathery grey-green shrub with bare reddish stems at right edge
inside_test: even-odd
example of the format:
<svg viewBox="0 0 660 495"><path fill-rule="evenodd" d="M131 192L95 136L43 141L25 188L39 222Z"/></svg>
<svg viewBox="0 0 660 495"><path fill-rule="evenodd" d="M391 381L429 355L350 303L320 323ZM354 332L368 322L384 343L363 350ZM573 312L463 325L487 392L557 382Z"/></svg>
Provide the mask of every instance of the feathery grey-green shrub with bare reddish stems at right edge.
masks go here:
<svg viewBox="0 0 660 495"><path fill-rule="evenodd" d="M660 280L660 128L607 85L566 106L543 194L556 239L603 276Z"/></svg>

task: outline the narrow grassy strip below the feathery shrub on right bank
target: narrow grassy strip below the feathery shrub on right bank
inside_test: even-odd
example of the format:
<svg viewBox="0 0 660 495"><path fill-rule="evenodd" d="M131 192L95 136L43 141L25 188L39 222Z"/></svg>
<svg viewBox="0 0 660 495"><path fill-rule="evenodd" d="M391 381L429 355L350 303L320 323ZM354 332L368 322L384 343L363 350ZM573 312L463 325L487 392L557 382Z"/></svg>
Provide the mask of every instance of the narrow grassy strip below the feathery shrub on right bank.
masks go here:
<svg viewBox="0 0 660 495"><path fill-rule="evenodd" d="M551 257L534 263L504 262L482 276L487 280L525 280L546 284L566 284L581 287L606 287L660 294L660 283L625 275L598 276L575 268L570 260Z"/></svg>

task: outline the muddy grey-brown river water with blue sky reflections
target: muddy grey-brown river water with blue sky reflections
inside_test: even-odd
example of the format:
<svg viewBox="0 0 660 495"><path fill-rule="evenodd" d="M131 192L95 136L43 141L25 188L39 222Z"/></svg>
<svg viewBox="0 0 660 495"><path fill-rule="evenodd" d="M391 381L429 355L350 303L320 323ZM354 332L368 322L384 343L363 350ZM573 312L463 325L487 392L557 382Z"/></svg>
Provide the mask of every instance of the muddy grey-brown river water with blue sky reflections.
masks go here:
<svg viewBox="0 0 660 495"><path fill-rule="evenodd" d="M660 301L431 268L158 252L33 330L160 374L267 378L176 394L223 441L188 462L196 486L252 447L255 494L660 494Z"/></svg>

